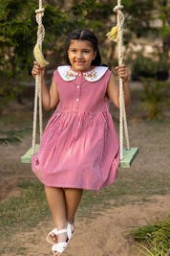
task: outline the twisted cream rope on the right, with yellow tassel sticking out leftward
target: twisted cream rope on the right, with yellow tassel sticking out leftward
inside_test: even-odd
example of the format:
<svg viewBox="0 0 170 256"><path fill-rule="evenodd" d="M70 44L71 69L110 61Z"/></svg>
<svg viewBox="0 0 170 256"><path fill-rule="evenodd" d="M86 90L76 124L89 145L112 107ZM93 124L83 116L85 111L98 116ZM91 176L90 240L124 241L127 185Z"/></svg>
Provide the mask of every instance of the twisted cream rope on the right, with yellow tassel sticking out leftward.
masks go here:
<svg viewBox="0 0 170 256"><path fill-rule="evenodd" d="M113 41L117 42L118 47L118 65L123 62L123 24L124 15L121 10L121 0L117 0L117 6L114 8L114 12L117 12L117 26L114 27L110 33L107 34ZM126 148L130 149L129 145L129 133L127 127L126 110L124 105L124 93L123 93L123 81L119 79L119 143L120 143L120 160L123 159L123 127L126 139Z"/></svg>

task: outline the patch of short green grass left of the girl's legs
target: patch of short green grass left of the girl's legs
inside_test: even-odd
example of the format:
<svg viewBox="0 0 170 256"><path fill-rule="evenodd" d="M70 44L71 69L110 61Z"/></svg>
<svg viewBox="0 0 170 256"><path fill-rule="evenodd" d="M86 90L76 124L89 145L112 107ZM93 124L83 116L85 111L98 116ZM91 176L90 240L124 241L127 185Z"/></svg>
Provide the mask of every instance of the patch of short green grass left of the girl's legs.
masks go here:
<svg viewBox="0 0 170 256"><path fill-rule="evenodd" d="M11 197L0 204L0 233L3 237L16 231L31 229L41 219L50 215L44 188L38 183L30 183L19 197Z"/></svg>

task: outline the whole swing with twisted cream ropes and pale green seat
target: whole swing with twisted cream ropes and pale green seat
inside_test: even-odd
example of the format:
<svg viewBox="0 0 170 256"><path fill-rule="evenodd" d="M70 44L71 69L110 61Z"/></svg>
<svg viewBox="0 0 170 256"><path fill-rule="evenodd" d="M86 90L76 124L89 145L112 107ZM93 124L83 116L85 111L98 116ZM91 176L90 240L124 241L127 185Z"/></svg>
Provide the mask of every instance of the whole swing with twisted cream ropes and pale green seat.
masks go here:
<svg viewBox="0 0 170 256"><path fill-rule="evenodd" d="M117 0L117 6L114 12L117 12L117 27L114 27L110 33L107 35L113 40L117 41L118 45L118 64L122 64L122 35L123 35L123 23L124 15L121 12L121 0ZM42 41L45 36L45 30L42 25L42 17L44 15L44 9L42 8L42 0L39 0L39 10L36 10L36 21L38 23L37 32L37 43L34 47L33 54L40 66L44 67L48 64L42 55ZM27 151L22 157L21 162L31 163L32 155L38 151L39 145L35 144L35 134L36 134L36 116L37 116L37 99L39 97L39 128L40 128L40 140L42 137L42 100L41 100L41 74L37 75L35 78L35 97L34 97L34 111L33 111L33 129L32 129L32 148ZM120 141L120 168L129 168L138 154L138 148L130 148L129 145L129 135L126 120L126 111L124 106L124 96L123 96L123 82L119 79L119 141ZM126 138L126 149L123 149L123 126Z"/></svg>

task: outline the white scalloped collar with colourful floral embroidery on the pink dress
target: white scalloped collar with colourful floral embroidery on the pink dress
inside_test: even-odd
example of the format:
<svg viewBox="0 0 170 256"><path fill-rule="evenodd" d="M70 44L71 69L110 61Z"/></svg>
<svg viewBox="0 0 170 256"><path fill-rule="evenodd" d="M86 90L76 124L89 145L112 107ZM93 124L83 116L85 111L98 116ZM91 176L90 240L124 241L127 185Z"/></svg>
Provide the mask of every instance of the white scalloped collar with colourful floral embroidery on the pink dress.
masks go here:
<svg viewBox="0 0 170 256"><path fill-rule="evenodd" d="M82 74L86 81L98 81L104 76L108 67L96 66L94 69L82 73L74 72L71 66L59 66L57 70L64 81L73 81L79 74Z"/></svg>

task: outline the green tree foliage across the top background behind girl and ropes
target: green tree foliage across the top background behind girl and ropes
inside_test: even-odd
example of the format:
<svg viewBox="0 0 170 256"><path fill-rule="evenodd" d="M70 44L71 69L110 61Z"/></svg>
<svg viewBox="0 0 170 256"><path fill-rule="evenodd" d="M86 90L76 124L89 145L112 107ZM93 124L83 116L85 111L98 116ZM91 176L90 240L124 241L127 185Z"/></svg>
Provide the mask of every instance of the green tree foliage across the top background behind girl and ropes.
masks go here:
<svg viewBox="0 0 170 256"><path fill-rule="evenodd" d="M108 44L106 34L116 22L116 14L113 12L117 5L116 0L44 0L43 3L46 4L43 17L46 29L43 51L46 58L48 51L54 53L54 57L50 59L50 68L64 63L65 38L76 28L94 31L104 62L109 66L115 65L115 44ZM1 105L7 105L11 99L17 98L23 89L23 81L30 76L32 49L37 36L34 12L38 9L37 4L37 0L0 1L0 75L5 77L5 80L0 81ZM161 39L162 47L157 49L159 58L155 61L158 70L167 70L170 45L170 12L167 0L122 0L122 5L125 7L125 46L128 47L137 38ZM155 25L158 20L161 26ZM149 72L152 77L153 71L150 69Z"/></svg>

